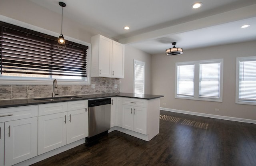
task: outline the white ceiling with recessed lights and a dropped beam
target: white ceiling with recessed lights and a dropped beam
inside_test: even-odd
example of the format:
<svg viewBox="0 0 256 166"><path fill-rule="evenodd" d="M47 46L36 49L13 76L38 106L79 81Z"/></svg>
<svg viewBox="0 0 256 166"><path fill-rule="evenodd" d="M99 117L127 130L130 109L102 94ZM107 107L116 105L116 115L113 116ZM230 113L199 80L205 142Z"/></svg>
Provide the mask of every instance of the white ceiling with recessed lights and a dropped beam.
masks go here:
<svg viewBox="0 0 256 166"><path fill-rule="evenodd" d="M30 0L61 14L60 0ZM256 40L256 0L61 0L63 17L150 54ZM240 28L250 24L248 28ZM129 26L130 30L124 30ZM94 34L94 32L90 32Z"/></svg>

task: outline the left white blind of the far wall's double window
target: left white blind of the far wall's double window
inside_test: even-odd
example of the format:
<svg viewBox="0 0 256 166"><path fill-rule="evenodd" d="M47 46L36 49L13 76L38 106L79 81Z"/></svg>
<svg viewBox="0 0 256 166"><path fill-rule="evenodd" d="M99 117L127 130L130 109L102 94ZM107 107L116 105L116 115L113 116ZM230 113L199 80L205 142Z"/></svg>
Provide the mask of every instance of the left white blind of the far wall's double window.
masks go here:
<svg viewBox="0 0 256 166"><path fill-rule="evenodd" d="M177 95L194 96L194 65L177 66Z"/></svg>

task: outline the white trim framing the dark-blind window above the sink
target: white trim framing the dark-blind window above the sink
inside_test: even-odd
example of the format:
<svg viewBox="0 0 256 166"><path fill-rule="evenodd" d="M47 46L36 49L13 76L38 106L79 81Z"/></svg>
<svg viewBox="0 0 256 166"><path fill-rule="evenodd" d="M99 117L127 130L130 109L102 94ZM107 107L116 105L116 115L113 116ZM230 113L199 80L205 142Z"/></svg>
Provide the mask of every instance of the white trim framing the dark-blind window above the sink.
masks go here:
<svg viewBox="0 0 256 166"><path fill-rule="evenodd" d="M59 36L60 34L56 33L56 32L52 32L50 30L46 30L44 28L40 28L38 26L33 26L31 24L27 24L18 20L14 20L12 18L8 18L6 16L2 16L0 15L0 21L2 22L6 22L8 24L13 24L15 26L20 26L22 28L27 28L29 30L33 30L33 31L37 31L37 32L41 32L50 36ZM72 41L75 43L79 43L82 45L86 45L88 46L88 50L87 50L87 77L86 80L75 80L75 81L71 81L71 80L61 80L58 79L58 84L59 85L90 85L90 74L91 74L91 44L87 43L85 41L81 41L78 39L74 39L68 36L65 36L65 39L68 41ZM0 79L0 85L50 85L52 84L52 79L34 79L34 78L12 78L12 77L8 77L8 78L1 78ZM17 83L18 81L18 83Z"/></svg>

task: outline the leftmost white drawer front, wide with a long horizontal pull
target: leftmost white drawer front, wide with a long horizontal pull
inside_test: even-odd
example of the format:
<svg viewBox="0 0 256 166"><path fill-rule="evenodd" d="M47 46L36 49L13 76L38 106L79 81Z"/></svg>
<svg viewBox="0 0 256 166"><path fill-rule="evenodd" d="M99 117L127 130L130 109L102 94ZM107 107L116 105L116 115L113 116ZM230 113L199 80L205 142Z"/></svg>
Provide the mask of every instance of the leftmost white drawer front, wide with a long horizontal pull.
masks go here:
<svg viewBox="0 0 256 166"><path fill-rule="evenodd" d="M0 122L14 121L38 116L38 105L0 109Z"/></svg>

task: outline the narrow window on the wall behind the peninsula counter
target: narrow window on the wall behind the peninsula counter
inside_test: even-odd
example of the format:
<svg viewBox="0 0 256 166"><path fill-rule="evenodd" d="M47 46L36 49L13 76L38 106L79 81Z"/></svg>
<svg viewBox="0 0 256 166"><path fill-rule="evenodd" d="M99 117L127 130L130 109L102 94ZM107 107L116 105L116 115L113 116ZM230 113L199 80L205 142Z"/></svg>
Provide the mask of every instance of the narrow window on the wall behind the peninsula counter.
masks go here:
<svg viewBox="0 0 256 166"><path fill-rule="evenodd" d="M144 94L145 62L134 59L134 94Z"/></svg>

